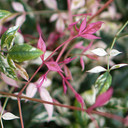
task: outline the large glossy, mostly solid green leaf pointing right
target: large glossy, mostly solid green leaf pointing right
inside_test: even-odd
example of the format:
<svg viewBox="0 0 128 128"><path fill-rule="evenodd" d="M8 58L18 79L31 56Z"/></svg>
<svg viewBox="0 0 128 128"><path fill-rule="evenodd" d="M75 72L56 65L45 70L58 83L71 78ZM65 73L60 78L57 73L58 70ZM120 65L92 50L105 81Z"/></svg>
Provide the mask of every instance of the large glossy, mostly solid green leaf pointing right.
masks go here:
<svg viewBox="0 0 128 128"><path fill-rule="evenodd" d="M8 52L10 58L15 62L23 62L39 57L43 52L28 44L15 45Z"/></svg>

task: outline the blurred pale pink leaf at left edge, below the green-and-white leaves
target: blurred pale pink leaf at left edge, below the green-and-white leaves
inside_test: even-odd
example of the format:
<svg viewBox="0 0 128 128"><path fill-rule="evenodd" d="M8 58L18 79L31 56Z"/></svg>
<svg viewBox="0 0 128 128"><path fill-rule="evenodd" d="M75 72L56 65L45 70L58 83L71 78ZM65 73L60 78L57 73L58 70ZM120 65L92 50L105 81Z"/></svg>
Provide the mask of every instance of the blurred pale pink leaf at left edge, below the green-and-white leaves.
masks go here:
<svg viewBox="0 0 128 128"><path fill-rule="evenodd" d="M13 80L13 79L7 77L7 76L6 76L5 74L3 74L3 73L1 73L1 77L2 77L3 81L4 81L6 84L8 84L8 85L10 85L10 86L13 86L13 87L19 88L19 86L18 86L18 84L17 84L17 82L16 82L15 80Z"/></svg>

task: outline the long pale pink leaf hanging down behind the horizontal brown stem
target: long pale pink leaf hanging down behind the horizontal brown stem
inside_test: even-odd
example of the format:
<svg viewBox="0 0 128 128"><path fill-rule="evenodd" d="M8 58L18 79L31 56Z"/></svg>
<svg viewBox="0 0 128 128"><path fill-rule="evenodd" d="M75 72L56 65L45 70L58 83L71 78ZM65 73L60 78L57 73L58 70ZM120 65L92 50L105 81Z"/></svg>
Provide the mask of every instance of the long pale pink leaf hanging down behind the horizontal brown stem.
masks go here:
<svg viewBox="0 0 128 128"><path fill-rule="evenodd" d="M45 88L41 87L39 89L39 93L40 93L40 97L42 100L48 101L48 102L53 102L52 97L50 96L49 92ZM48 112L48 120L50 120L52 118L52 114L53 114L53 105L44 104L44 106Z"/></svg>

